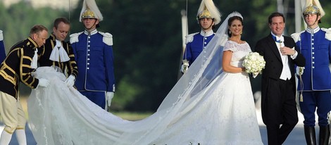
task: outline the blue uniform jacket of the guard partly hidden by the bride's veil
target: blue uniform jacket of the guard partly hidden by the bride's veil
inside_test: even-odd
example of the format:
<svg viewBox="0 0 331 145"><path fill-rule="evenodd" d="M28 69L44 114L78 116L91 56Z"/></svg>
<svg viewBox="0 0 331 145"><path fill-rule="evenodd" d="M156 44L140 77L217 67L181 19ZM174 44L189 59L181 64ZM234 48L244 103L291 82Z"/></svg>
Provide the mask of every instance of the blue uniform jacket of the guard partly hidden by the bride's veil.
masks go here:
<svg viewBox="0 0 331 145"><path fill-rule="evenodd" d="M199 56L199 54L204 50L207 44L211 41L211 39L215 36L213 30L209 32L196 32L193 34L187 35L186 38L186 49L184 52L183 60L189 61L189 65L191 65L195 59Z"/></svg>

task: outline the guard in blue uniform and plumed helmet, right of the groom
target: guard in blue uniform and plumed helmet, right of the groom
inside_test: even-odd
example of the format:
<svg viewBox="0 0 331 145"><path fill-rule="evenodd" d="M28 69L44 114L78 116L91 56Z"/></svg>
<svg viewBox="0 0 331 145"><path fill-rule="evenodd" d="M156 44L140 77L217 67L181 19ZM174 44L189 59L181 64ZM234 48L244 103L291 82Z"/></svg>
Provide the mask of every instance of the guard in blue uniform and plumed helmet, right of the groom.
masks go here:
<svg viewBox="0 0 331 145"><path fill-rule="evenodd" d="M316 2L316 0L314 0ZM303 32L292 34L296 45L306 58L306 66L299 69L299 105L304 115L304 133L307 144L316 144L315 111L320 127L320 144L328 144L330 125L328 114L331 111L331 30L320 28L320 18L323 16L319 2L306 5L303 11L307 28Z"/></svg>

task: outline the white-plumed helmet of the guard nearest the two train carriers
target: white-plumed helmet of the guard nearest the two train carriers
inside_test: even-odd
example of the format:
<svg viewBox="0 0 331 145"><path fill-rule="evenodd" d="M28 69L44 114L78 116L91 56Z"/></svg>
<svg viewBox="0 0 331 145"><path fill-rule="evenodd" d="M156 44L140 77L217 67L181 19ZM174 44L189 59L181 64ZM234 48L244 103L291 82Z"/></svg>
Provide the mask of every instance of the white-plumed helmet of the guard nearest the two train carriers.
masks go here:
<svg viewBox="0 0 331 145"><path fill-rule="evenodd" d="M95 18L99 21L104 20L98 6L94 0L84 0L82 4L82 11L80 11L80 22L85 18Z"/></svg>

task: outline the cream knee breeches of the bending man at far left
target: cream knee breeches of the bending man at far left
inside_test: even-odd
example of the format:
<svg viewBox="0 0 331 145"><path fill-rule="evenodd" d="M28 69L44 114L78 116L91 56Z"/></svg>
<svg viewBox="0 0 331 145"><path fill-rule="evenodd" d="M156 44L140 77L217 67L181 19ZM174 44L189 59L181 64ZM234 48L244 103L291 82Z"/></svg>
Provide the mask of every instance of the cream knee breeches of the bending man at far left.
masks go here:
<svg viewBox="0 0 331 145"><path fill-rule="evenodd" d="M15 130L25 130L25 113L20 104L20 97L16 100L13 96L0 92L0 115L4 121L4 131L13 134Z"/></svg>

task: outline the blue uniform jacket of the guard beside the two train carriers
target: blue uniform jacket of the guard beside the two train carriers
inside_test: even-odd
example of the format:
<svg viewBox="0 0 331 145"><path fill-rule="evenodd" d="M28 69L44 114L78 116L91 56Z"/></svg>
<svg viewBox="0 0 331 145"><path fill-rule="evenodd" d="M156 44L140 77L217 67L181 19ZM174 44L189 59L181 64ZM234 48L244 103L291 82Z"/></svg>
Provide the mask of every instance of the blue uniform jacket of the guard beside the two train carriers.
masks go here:
<svg viewBox="0 0 331 145"><path fill-rule="evenodd" d="M93 30L70 35L78 75L78 91L115 92L113 67L113 37Z"/></svg>

